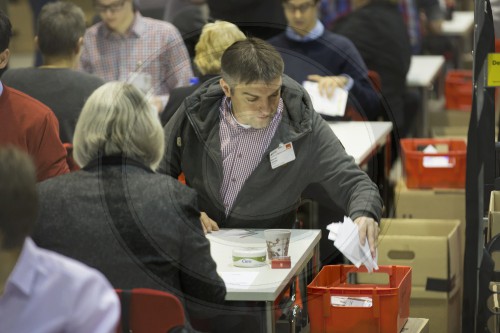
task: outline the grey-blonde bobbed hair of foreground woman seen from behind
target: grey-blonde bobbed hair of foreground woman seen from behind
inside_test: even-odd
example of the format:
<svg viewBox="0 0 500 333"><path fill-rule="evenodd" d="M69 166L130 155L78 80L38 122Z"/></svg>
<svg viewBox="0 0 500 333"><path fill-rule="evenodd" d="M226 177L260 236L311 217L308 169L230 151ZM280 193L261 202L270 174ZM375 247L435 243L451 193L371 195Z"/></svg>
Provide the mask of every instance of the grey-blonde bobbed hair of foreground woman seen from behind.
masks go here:
<svg viewBox="0 0 500 333"><path fill-rule="evenodd" d="M131 84L109 82L86 102L78 119L73 156L86 166L102 156L123 156L156 169L163 128L144 95Z"/></svg>

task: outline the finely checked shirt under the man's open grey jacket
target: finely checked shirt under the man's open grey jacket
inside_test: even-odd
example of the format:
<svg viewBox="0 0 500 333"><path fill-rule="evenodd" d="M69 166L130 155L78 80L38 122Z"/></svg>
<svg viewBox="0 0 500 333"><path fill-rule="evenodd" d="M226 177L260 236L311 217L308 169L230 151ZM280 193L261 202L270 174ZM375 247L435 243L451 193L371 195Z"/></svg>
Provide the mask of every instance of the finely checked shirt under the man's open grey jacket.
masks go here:
<svg viewBox="0 0 500 333"><path fill-rule="evenodd" d="M223 179L220 194L226 216L233 207L236 196L247 178L262 160L283 114L283 100L269 126L245 128L238 124L231 111L231 102L224 97L220 111L220 144L222 152Z"/></svg>

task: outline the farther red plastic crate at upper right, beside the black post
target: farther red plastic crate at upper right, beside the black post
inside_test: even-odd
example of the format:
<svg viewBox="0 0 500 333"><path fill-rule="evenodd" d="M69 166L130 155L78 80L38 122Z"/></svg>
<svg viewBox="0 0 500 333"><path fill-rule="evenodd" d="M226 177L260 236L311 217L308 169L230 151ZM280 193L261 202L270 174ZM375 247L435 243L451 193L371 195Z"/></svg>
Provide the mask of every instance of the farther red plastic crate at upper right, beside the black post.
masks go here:
<svg viewBox="0 0 500 333"><path fill-rule="evenodd" d="M446 73L444 95L446 109L470 111L472 108L472 71L449 70Z"/></svg>

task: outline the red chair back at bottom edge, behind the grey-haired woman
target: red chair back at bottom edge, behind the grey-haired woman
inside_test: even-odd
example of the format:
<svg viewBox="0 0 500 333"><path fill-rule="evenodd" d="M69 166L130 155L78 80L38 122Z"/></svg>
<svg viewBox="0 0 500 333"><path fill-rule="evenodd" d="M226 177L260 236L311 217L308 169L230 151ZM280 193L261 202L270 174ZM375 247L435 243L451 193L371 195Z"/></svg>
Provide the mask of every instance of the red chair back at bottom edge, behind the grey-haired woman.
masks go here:
<svg viewBox="0 0 500 333"><path fill-rule="evenodd" d="M170 293L145 288L116 289L116 293L122 307L117 333L166 333L186 323L184 307Z"/></svg>

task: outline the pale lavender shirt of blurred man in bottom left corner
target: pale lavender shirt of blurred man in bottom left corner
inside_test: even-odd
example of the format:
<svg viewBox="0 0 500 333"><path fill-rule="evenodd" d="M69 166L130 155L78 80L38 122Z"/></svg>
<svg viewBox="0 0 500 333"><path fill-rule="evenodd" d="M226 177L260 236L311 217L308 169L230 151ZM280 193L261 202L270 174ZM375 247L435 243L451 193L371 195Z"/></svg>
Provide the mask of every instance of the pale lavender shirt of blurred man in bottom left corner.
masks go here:
<svg viewBox="0 0 500 333"><path fill-rule="evenodd" d="M25 240L0 296L0 332L114 333L119 317L101 273Z"/></svg>

